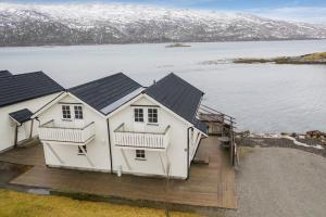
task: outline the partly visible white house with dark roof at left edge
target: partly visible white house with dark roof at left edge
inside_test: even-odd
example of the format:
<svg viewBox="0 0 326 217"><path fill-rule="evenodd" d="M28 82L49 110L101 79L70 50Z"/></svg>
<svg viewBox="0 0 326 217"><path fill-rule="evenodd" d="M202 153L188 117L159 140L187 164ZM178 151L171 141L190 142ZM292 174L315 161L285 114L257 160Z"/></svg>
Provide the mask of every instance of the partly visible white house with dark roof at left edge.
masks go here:
<svg viewBox="0 0 326 217"><path fill-rule="evenodd" d="M0 72L0 152L37 135L33 113L64 89L42 72Z"/></svg>

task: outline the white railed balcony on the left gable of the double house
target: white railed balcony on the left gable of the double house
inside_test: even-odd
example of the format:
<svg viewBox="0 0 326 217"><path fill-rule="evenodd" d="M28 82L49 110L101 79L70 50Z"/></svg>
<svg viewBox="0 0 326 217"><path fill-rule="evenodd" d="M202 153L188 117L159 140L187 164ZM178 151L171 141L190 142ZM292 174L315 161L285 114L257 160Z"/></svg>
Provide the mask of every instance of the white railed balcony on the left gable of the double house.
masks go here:
<svg viewBox="0 0 326 217"><path fill-rule="evenodd" d="M57 125L52 119L39 127L39 139L72 145L85 145L95 139L95 123L83 127Z"/></svg>

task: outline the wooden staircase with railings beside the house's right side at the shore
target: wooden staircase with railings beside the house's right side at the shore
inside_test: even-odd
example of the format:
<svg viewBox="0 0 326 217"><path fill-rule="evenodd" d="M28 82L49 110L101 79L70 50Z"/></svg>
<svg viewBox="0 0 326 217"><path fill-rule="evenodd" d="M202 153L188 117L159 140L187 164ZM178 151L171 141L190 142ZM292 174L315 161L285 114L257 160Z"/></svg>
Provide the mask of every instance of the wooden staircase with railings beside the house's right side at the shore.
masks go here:
<svg viewBox="0 0 326 217"><path fill-rule="evenodd" d="M203 104L198 108L197 118L208 125L209 136L218 137L221 145L229 150L230 162L235 166L237 159L236 119Z"/></svg>

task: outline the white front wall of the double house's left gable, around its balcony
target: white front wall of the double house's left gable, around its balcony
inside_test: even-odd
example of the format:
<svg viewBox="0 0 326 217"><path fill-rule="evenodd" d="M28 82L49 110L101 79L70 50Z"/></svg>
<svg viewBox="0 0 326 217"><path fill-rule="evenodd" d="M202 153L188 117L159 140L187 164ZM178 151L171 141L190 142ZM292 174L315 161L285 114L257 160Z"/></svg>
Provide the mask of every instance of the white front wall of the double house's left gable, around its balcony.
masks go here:
<svg viewBox="0 0 326 217"><path fill-rule="evenodd" d="M50 143L55 153L64 162L63 164L55 157L47 144L45 146L46 164L55 167L68 167L68 168L79 168L79 169L90 169L90 170L102 170L110 171L110 151L109 151L109 138L108 138L108 126L104 116L98 114L88 105L83 104L84 123L77 123L80 120L73 119L72 122L66 122L62 119L62 108L59 103L80 103L76 99L67 95L61 99L58 103L51 106L49 110L40 114L40 124L45 124L51 119L59 125L87 125L95 122L96 137L90 143L87 144L87 155L93 164L93 167L88 163L85 155L78 155L78 146L73 144L58 144ZM74 104L71 105L72 117L74 118Z"/></svg>

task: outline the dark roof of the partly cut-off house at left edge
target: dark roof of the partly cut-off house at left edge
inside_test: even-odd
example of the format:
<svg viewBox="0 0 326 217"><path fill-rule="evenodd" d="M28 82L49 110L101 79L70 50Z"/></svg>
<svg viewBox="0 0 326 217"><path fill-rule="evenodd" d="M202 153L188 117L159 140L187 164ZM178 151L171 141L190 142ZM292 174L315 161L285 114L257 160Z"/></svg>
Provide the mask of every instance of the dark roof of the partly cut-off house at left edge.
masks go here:
<svg viewBox="0 0 326 217"><path fill-rule="evenodd" d="M0 107L64 90L42 72L5 76L0 79Z"/></svg>

